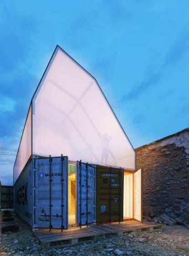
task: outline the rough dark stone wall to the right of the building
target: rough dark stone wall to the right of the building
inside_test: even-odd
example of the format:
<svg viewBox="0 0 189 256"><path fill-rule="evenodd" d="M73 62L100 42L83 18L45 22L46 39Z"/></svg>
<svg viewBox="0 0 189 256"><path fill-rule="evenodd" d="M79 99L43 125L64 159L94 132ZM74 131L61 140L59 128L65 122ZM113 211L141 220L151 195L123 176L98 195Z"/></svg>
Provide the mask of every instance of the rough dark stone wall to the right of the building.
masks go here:
<svg viewBox="0 0 189 256"><path fill-rule="evenodd" d="M189 227L189 128L136 149L143 217L166 214Z"/></svg>

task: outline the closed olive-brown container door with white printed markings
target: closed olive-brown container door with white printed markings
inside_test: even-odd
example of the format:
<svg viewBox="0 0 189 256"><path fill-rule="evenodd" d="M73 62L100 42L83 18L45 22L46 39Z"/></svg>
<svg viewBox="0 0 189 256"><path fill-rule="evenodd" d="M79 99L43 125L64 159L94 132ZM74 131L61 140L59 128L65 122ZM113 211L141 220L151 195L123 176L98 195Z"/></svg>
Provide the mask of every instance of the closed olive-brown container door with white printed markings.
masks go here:
<svg viewBox="0 0 189 256"><path fill-rule="evenodd" d="M96 167L96 222L123 221L123 170Z"/></svg>

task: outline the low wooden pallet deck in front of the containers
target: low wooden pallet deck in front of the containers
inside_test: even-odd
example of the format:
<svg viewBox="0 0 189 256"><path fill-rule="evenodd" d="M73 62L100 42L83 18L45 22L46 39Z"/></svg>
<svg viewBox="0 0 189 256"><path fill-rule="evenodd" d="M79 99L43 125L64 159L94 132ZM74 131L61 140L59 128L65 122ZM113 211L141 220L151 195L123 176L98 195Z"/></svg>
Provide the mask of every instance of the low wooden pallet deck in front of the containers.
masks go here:
<svg viewBox="0 0 189 256"><path fill-rule="evenodd" d="M100 224L89 227L65 229L63 232L59 229L39 229L33 231L33 234L40 240L44 249L50 247L64 247L70 245L79 245L92 242L94 240L104 239L109 235L123 235L126 232L156 231L162 229L161 224L146 224L136 220L122 222L121 224Z"/></svg>

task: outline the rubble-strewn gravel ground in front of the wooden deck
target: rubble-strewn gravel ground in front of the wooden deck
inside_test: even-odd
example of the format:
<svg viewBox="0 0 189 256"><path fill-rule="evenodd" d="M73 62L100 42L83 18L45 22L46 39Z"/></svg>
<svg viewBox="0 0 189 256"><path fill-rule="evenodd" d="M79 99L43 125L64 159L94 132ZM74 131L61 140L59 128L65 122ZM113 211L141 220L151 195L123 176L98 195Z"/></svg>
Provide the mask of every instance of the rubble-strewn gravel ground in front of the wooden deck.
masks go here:
<svg viewBox="0 0 189 256"><path fill-rule="evenodd" d="M189 256L189 229L167 226L161 231L112 235L100 241L43 250L28 226L16 220L18 232L1 234L0 256Z"/></svg>

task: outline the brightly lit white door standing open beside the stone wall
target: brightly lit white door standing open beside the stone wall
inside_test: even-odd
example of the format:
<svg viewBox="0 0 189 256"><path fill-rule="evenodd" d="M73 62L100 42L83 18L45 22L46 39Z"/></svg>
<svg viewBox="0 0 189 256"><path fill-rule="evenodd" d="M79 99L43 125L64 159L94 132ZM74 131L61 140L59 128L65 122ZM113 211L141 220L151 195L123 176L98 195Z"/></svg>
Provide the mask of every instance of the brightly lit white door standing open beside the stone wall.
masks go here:
<svg viewBox="0 0 189 256"><path fill-rule="evenodd" d="M142 170L134 173L134 219L142 221Z"/></svg>

